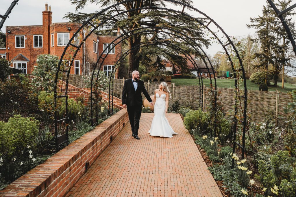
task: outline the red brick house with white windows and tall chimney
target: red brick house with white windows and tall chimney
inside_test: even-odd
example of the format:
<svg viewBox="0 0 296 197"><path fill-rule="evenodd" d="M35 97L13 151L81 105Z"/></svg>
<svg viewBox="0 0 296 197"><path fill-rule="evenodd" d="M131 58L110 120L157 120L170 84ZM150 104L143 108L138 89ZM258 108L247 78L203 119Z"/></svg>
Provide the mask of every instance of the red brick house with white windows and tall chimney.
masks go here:
<svg viewBox="0 0 296 197"><path fill-rule="evenodd" d="M0 56L10 61L13 67L22 69L23 73L31 74L34 66L37 66L38 55L51 54L60 57L69 39L81 25L73 22L52 23L51 7L46 4L45 11L42 12L42 25L6 26L6 48L0 48ZM78 45L88 33L87 27L82 29L76 35L74 44ZM118 29L117 36L119 35ZM111 50L112 45L110 43L117 36L98 36L92 33L78 51L70 73L91 73L99 55L105 48ZM66 62L71 59L75 49L73 47L72 49L71 47L68 48L64 56ZM103 54L103 57L105 56ZM109 75L120 56L121 44L116 45L104 59L101 70ZM101 63L102 59L100 59L98 65ZM117 75L116 73L115 77Z"/></svg>

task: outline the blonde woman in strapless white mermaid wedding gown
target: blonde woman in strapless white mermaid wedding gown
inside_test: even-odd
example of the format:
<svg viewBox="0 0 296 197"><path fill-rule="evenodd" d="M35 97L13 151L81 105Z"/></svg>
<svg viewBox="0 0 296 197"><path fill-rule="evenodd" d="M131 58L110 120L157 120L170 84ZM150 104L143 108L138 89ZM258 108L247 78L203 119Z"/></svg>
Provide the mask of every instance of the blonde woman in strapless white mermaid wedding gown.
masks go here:
<svg viewBox="0 0 296 197"><path fill-rule="evenodd" d="M168 100L170 97L170 90L165 82L161 82L159 89L154 92L154 117L148 133L150 136L160 136L171 138L173 135L177 135L168 123L168 119L165 118L165 113L168 112Z"/></svg>

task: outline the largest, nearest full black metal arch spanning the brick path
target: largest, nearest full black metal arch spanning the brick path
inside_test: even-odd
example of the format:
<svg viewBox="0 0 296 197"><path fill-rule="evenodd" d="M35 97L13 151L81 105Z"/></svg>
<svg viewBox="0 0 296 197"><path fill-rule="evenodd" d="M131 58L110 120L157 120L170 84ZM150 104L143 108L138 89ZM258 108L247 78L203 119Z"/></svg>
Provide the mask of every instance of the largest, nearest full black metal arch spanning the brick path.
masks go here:
<svg viewBox="0 0 296 197"><path fill-rule="evenodd" d="M224 36L226 36L227 40L228 40L228 43L226 44L223 44L221 42L221 40L218 39L219 43L223 46L223 49L227 51L226 49L226 46L227 45L231 45L231 47L233 48L238 60L239 60L239 69L235 69L235 71L242 71L242 78L243 78L243 81L244 81L244 96L242 96L244 98L244 109L243 109L243 137L242 137L242 158L244 158L244 147L245 147L245 131L246 131L246 124L247 124L247 84L246 84L246 78L245 78L245 73L244 73L244 67L243 67L243 64L242 64L242 60L239 56L239 53L236 49L236 47L234 46L234 43L231 41L231 39L229 38L229 36L226 34L226 32L213 20L211 19L209 16L207 16L205 13L201 12L200 10L188 5L188 4L185 4L185 3L182 3L182 2L179 2L179 1L175 1L175 0L163 0L163 1L166 1L166 2L170 2L170 3L174 3L174 4L178 4L178 5L181 5L183 6L183 10L182 11L178 11L178 10L174 10L174 9L168 9L168 8L161 8L161 7L156 7L156 6L149 6L149 7L142 7L142 8L135 8L135 9L130 9L130 10L127 10L127 11L123 11L123 12L119 12L117 7L116 6L119 6L121 4L124 4L124 3L128 3L128 2L132 2L134 0L126 0L126 1L121 1L117 4L114 4L112 6L109 6L107 7L106 9L102 9L102 11L94 14L92 17L90 17L88 20L86 20L86 22L83 23L83 25L81 27L78 28L78 30L74 33L74 35L72 36L72 38L69 40L67 46L65 47L65 50L61 56L61 59L59 61L59 64L58 64L58 67L57 67L57 73L56 73L56 77L55 77L55 87L54 87L54 116L55 116L55 133L56 133L56 149L58 149L58 139L57 139L57 124L61 121L66 121L66 136L67 136L67 131L68 131L68 110L67 110L67 107L68 107L68 103L67 103L67 89L68 89L68 79L69 79L69 74L70 74L70 69L73 65L73 61L74 61L74 58L76 57L79 49L81 48L81 45L82 43L91 35L92 32L94 32L94 30L96 30L99 26L101 26L102 24L104 24L105 22L107 22L108 20L114 18L114 17L117 17L119 16L120 14L125 14L127 12L133 12L133 11L138 11L138 10L147 10L147 9L157 9L157 10L167 10L167 11L171 11L171 12L176 12L176 13L179 13L179 14L184 14L185 16L191 18L191 19L194 19L195 21L197 21L200 25L202 25L203 27L205 27L208 31L210 31L212 34L213 34L213 31L210 30L210 28L208 27L210 25L210 23L212 22L216 27L218 27L219 30L221 30L221 32L224 34ZM207 25L205 25L203 22L199 21L197 18L194 18L186 13L184 13L184 9L185 7L188 7L189 9L192 9L192 10L195 10L196 12L202 14L203 16L205 16L207 19L209 19L209 23ZM112 15L110 16L109 18L105 19L104 21L100 22L98 25L94 25L91 23L92 19L94 19L95 17L99 16L100 14L102 14L103 12L105 12L106 10L109 10L109 9L115 9L118 14L115 14L115 15ZM86 37L84 37L83 41L79 44L79 45L75 45L72 43L72 41L74 40L75 36L80 32L80 30L87 26L87 25L91 25L93 27L93 29L86 35ZM215 34L213 34L215 36L215 38L218 38ZM62 64L62 60L63 60L63 57L65 56L65 53L68 49L69 46L72 46L74 48L76 48L75 50L75 53L73 55L73 57L71 58L71 61L70 61L70 65L68 67L68 69L65 69L63 70L63 72L66 72L67 73L67 77L66 77L66 87L65 87L65 95L61 95L61 96L57 96L57 82L58 82L58 74L59 74L59 71L60 71L60 66ZM229 59L231 59L229 57ZM233 65L232 65L233 66ZM234 70L234 68L233 68ZM236 80L237 82L237 80ZM236 93L238 92L238 88L236 87ZM236 94L237 95L237 94ZM57 119L57 98L59 97L66 97L66 118L63 118L63 119L60 119L58 120ZM236 96L236 102L237 102L237 96ZM240 99L239 99L240 100ZM236 108L236 113L237 113L237 108ZM234 130L236 130L236 127L234 128ZM67 141L65 141L67 142ZM235 141L234 141L234 146L235 146Z"/></svg>

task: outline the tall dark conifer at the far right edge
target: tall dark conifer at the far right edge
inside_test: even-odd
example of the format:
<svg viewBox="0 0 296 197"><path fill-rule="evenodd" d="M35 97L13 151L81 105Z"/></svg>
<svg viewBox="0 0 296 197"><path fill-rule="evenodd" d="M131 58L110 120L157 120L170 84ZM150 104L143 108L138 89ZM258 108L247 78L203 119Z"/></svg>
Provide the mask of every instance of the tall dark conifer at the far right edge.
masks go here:
<svg viewBox="0 0 296 197"><path fill-rule="evenodd" d="M279 10L284 10L289 7L291 1L278 0L276 6ZM294 16L295 12L292 11L284 15L285 21L295 37L295 22L292 19ZM255 40L261 44L261 49L254 54L258 58L258 64L255 66L271 72L274 86L277 86L279 74L283 66L291 67L290 60L295 57L292 54L292 48L290 48L288 35L280 19L269 5L263 6L262 15L257 18L251 18L251 25L247 26L256 30L258 38Z"/></svg>

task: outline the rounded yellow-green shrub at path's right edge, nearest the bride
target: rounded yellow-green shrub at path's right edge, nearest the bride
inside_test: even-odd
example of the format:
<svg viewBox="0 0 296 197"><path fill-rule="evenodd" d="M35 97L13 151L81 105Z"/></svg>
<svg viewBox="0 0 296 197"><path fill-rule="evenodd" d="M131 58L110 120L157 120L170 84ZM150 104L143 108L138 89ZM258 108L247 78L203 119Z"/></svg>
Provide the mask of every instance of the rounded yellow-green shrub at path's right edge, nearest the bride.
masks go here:
<svg viewBox="0 0 296 197"><path fill-rule="evenodd" d="M189 132L191 132L194 128L207 130L207 120L207 113L202 112L201 109L191 110L184 117L184 125Z"/></svg>

